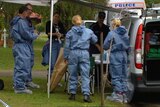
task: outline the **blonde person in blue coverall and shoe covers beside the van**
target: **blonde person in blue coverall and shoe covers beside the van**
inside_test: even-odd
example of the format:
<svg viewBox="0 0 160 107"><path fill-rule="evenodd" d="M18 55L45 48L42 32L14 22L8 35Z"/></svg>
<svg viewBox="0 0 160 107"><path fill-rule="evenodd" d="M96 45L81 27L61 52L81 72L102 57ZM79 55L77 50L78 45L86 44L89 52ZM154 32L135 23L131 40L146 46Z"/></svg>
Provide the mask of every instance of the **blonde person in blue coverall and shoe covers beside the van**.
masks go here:
<svg viewBox="0 0 160 107"><path fill-rule="evenodd" d="M120 19L112 19L111 27L113 30L105 38L103 46L105 50L109 49L112 41L109 72L111 74L113 93L111 96L107 96L107 99L127 103L127 54L129 52L129 36L126 28L121 25Z"/></svg>

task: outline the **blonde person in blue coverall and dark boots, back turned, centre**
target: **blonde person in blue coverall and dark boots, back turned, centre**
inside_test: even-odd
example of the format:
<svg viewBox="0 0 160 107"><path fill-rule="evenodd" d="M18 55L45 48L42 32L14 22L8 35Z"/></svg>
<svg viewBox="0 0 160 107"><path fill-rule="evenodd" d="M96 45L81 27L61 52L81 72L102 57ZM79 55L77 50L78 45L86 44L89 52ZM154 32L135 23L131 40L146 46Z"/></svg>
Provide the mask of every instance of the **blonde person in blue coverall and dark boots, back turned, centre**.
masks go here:
<svg viewBox="0 0 160 107"><path fill-rule="evenodd" d="M69 100L75 100L78 72L81 75L81 90L84 95L84 102L92 102L90 99L90 43L95 44L97 37L92 30L82 26L81 16L75 15L72 18L73 27L66 34L64 59L68 62Z"/></svg>

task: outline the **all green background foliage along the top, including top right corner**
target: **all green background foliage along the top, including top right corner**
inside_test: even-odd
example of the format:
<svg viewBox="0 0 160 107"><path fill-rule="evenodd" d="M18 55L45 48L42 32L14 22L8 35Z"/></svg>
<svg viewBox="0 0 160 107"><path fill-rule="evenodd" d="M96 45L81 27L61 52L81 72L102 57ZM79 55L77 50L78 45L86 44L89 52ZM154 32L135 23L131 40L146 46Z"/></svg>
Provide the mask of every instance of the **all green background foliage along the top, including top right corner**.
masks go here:
<svg viewBox="0 0 160 107"><path fill-rule="evenodd" d="M106 5L107 0L87 0L94 3L99 3L101 5ZM152 7L153 4L160 3L159 0L145 0L147 7ZM0 32L3 31L4 28L9 29L10 20L16 15L20 4L14 3L5 3L0 2L0 6L3 9L0 9ZM33 6L35 12L42 15L42 21L40 24L36 25L36 28L43 32L45 31L46 21L50 19L50 7L48 6ZM72 2L58 2L55 4L55 11L61 13L61 21L65 24L66 29L68 30L71 26L71 18L75 14L79 14L83 19L95 19L95 14L98 11L91 7L86 7L83 5L79 5Z"/></svg>

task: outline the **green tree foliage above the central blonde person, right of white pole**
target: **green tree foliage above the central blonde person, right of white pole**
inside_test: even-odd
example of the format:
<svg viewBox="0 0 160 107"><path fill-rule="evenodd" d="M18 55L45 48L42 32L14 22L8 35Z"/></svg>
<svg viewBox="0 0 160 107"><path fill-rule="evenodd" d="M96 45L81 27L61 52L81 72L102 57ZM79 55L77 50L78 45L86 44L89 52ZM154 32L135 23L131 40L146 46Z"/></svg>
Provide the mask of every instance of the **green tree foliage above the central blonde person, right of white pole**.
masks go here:
<svg viewBox="0 0 160 107"><path fill-rule="evenodd" d="M88 0L90 2L106 5L106 0ZM63 8L62 8L63 7ZM55 5L55 10L61 13L61 19L66 24L66 28L71 26L71 19L73 15L79 14L82 19L95 19L95 14L100 11L92 7L86 7L72 2L59 2Z"/></svg>

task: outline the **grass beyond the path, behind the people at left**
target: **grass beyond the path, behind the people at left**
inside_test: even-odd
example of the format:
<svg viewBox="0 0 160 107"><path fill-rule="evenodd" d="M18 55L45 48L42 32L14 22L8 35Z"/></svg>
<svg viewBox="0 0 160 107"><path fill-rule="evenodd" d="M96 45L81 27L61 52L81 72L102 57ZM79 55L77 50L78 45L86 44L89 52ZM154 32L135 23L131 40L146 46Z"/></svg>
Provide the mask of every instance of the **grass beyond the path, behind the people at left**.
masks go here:
<svg viewBox="0 0 160 107"><path fill-rule="evenodd" d="M44 36L41 36L34 42L34 52L35 52L35 62L33 70L35 71L44 71L47 70L47 67L44 67L41 65L42 61L42 48L45 42L47 41L47 38ZM14 59L12 55L12 48L3 48L0 47L0 71L1 70L13 70L14 67Z"/></svg>

